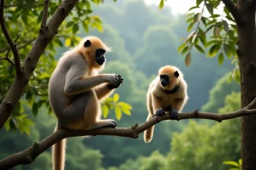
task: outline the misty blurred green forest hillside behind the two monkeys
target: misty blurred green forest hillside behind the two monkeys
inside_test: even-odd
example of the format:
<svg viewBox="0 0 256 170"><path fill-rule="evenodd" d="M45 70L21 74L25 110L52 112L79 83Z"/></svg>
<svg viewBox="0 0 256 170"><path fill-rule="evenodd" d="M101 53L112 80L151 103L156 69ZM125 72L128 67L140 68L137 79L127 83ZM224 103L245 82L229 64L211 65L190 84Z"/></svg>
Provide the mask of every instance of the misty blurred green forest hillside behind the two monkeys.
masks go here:
<svg viewBox="0 0 256 170"><path fill-rule="evenodd" d="M219 66L218 58L209 59L206 54L192 50L194 58L186 67L184 57L177 53L181 38L188 36L185 14L172 15L170 8L160 10L158 6L145 5L143 1L104 1L103 5L92 5L91 8L93 14L101 17L102 28L90 27L86 32L80 24L76 37L95 35L113 48L113 52L107 54L105 72L119 73L125 78L125 83L116 93L119 100L132 106L131 116L122 115L119 127L145 122L148 83L162 65L177 65L189 84L189 102L183 111L199 109L224 113L240 108L239 84L235 80L230 81L234 65L229 59L225 58L223 65ZM57 60L73 43L72 38L67 40L63 37L59 42L62 47L55 48L55 52L49 55ZM42 62L43 59L43 65ZM44 76L49 76L53 69L45 71ZM0 69L1 75L4 71ZM3 89L4 83L1 86ZM35 111L31 109L31 103L21 102L20 105L23 105L24 112L34 125L30 127L29 135L26 129L26 133L22 130L9 131L10 127L2 130L0 158L44 139L55 127L56 118L47 107L37 107L39 110ZM116 119L113 111L109 112L108 118ZM237 161L241 157L240 128L239 118L222 123L173 121L157 124L154 139L149 144L144 143L143 134L139 139L112 136L70 138L66 167L78 170L228 169L222 164L223 161ZM50 168L49 149L32 164L14 169Z"/></svg>

